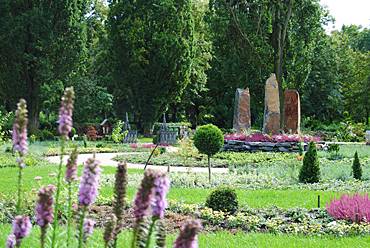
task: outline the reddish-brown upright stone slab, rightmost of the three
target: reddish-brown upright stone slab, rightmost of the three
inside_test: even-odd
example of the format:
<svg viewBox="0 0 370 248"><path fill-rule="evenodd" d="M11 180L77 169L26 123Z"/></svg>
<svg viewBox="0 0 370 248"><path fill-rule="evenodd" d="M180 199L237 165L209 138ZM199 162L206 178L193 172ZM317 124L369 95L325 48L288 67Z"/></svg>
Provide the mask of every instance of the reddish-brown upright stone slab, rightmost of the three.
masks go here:
<svg viewBox="0 0 370 248"><path fill-rule="evenodd" d="M296 90L284 92L284 131L298 134L301 126L301 102Z"/></svg>

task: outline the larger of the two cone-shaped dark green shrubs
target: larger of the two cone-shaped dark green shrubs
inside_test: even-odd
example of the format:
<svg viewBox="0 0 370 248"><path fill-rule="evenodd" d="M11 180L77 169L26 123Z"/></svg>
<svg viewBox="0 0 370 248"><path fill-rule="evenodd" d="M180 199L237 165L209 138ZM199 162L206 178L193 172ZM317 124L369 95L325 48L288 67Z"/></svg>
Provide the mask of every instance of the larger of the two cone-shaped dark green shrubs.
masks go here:
<svg viewBox="0 0 370 248"><path fill-rule="evenodd" d="M310 142L308 151L303 158L303 166L299 172L299 182L318 183L320 181L320 165L316 145Z"/></svg>

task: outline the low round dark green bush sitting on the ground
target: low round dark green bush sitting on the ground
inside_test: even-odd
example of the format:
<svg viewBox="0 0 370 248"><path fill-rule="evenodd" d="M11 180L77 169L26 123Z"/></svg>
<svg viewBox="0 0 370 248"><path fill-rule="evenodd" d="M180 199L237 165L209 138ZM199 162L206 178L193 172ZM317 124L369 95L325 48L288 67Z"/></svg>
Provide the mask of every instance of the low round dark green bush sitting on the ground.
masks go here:
<svg viewBox="0 0 370 248"><path fill-rule="evenodd" d="M206 207L212 208L214 211L235 213L238 210L238 198L235 190L227 187L215 189L208 196Z"/></svg>

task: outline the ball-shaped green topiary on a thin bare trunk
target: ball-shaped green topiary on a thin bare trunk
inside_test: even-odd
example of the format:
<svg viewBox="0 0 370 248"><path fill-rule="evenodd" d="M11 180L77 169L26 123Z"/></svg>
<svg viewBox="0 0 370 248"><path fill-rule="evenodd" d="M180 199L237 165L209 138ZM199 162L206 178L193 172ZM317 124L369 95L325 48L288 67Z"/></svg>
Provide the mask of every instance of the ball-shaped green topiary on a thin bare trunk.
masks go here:
<svg viewBox="0 0 370 248"><path fill-rule="evenodd" d="M208 124L197 128L194 145L200 153L208 156L208 179L211 182L211 157L218 153L224 144L222 131L215 125Z"/></svg>

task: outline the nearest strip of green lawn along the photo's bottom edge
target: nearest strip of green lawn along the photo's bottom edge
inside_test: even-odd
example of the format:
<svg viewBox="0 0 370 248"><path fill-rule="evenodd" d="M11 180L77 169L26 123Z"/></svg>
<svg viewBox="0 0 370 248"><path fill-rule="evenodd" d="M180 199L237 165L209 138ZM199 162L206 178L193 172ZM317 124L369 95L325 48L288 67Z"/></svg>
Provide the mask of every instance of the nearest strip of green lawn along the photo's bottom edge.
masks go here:
<svg viewBox="0 0 370 248"><path fill-rule="evenodd" d="M31 236L26 238L23 242L23 247L38 247L38 228L33 229ZM63 230L62 230L63 231ZM0 226L0 244L4 244L7 234L10 232L10 225ZM170 234L167 237L168 247L172 244L177 234ZM126 231L120 235L118 247L129 247L131 241L131 233ZM64 240L59 240L62 244ZM356 236L356 237L305 237L305 236L290 236L290 235L274 235L274 234L256 234L256 233L243 233L243 232L214 232L214 233L201 233L199 235L199 247L201 248L248 248L248 247L276 247L276 248L337 248L337 247L356 247L365 248L369 247L369 236ZM58 247L63 247L59 245ZM88 247L100 248L104 247L102 230L97 229L94 231L93 236L89 238Z"/></svg>

